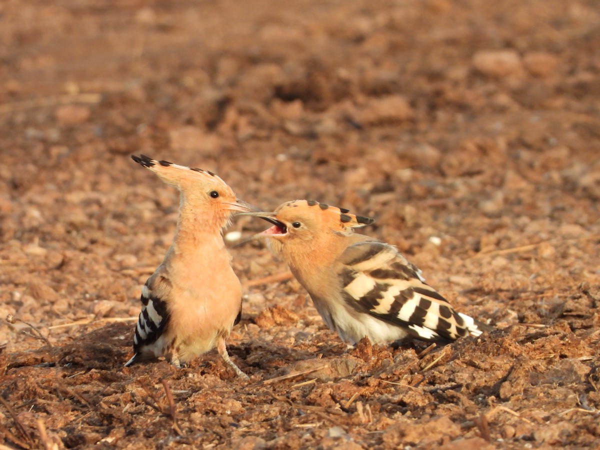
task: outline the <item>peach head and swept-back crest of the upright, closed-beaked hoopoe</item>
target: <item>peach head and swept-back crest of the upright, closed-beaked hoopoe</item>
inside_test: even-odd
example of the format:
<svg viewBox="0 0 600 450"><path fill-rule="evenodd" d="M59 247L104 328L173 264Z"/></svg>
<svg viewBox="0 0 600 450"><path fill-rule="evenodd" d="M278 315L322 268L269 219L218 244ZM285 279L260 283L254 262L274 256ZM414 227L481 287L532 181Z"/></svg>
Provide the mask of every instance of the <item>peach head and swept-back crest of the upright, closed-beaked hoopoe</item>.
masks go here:
<svg viewBox="0 0 600 450"><path fill-rule="evenodd" d="M206 214L224 227L235 211L257 211L238 200L232 188L209 170L179 166L169 161L153 160L145 155L131 155L136 163L154 172L158 178L181 192L181 208ZM208 218L208 217L207 217Z"/></svg>

